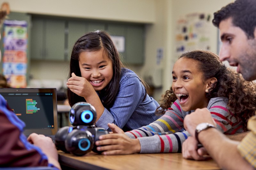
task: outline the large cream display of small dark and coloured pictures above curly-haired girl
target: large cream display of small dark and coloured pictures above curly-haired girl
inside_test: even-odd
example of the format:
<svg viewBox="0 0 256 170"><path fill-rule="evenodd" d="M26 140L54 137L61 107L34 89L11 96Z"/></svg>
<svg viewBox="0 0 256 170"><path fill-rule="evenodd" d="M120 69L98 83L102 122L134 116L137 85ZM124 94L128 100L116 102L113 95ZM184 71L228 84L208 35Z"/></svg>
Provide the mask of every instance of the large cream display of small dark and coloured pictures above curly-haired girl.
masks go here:
<svg viewBox="0 0 256 170"><path fill-rule="evenodd" d="M177 20L175 34L175 52L177 57L186 51L211 49L210 17L210 14L191 13Z"/></svg>

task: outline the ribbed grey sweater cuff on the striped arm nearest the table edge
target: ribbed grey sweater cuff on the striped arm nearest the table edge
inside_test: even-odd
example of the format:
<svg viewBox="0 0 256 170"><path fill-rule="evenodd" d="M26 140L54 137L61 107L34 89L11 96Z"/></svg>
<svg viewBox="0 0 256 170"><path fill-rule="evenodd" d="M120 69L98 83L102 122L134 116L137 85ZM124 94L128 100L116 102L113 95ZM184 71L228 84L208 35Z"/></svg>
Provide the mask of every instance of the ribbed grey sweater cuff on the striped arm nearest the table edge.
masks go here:
<svg viewBox="0 0 256 170"><path fill-rule="evenodd" d="M157 135L152 137L138 137L140 153L158 153L161 150L160 139Z"/></svg>

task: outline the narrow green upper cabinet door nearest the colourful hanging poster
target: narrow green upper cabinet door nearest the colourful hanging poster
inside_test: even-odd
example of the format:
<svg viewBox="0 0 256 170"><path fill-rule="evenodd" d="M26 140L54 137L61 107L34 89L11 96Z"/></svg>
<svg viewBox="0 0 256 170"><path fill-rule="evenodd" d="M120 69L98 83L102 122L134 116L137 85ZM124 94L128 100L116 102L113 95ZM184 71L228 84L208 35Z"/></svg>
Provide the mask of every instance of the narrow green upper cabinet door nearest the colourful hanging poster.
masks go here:
<svg viewBox="0 0 256 170"><path fill-rule="evenodd" d="M33 19L31 27L31 58L43 59L45 56L44 46L45 21L42 19Z"/></svg>

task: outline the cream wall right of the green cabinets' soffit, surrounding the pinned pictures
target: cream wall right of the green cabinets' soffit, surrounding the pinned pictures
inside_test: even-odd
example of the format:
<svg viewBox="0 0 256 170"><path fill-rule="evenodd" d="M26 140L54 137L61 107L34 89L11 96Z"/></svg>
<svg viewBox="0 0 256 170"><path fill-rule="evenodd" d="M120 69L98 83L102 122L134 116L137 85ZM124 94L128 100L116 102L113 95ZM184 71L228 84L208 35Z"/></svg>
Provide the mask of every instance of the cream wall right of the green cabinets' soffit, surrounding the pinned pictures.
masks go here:
<svg viewBox="0 0 256 170"><path fill-rule="evenodd" d="M156 66L156 49L164 48L164 58L160 67L163 67L163 88L156 90L154 98L160 99L172 85L172 67L178 56L175 54L175 27L176 21L185 14L203 12L212 14L221 7L233 2L232 0L156 0L156 22L146 30L146 61L139 74L144 75L150 68ZM217 28L211 25L211 51L217 53Z"/></svg>

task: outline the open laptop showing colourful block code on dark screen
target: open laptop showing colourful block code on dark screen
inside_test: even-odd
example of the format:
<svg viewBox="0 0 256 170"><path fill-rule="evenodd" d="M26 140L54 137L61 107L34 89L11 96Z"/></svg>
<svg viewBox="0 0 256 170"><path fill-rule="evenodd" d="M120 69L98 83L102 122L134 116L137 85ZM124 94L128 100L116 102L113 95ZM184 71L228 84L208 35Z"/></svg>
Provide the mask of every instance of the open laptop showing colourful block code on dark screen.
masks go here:
<svg viewBox="0 0 256 170"><path fill-rule="evenodd" d="M0 94L26 126L24 134L43 134L53 142L58 131L56 88L0 88Z"/></svg>

